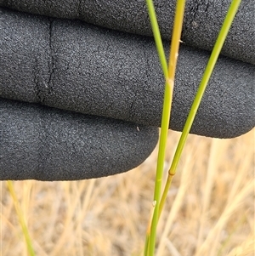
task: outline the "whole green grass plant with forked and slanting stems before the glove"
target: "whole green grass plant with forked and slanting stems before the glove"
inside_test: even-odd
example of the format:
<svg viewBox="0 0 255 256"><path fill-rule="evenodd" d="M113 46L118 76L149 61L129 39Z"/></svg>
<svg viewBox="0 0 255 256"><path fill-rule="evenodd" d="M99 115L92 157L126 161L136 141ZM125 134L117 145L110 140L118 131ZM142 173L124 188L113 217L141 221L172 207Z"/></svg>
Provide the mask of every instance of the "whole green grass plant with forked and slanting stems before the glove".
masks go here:
<svg viewBox="0 0 255 256"><path fill-rule="evenodd" d="M212 49L212 54L210 59L207 63L207 68L204 72L203 77L201 78L201 84L198 88L197 93L195 94L195 100L191 106L190 113L187 117L187 121L184 125L183 133L179 139L178 147L173 157L173 162L171 167L168 171L167 177L167 184L161 196L161 181L162 181L162 174L164 168L164 158L165 158L165 151L166 151L166 141L167 141L167 130L169 127L169 120L170 120L170 112L171 112L171 105L172 105L172 98L173 98L173 84L174 84L174 74L178 59L178 46L181 40L181 30L182 30L182 23L184 18L184 7L185 1L178 0L175 9L175 18L173 24L173 37L171 41L171 48L170 48L170 57L169 57L169 64L168 64L168 71L165 67L166 60L163 54L163 48L161 43L161 37L159 28L156 21L156 13L153 7L152 0L147 0L148 12L150 14L150 22L152 31L156 41L156 48L158 50L158 55L161 60L162 71L164 73L166 79L165 85L165 94L164 94L164 101L163 101L163 110L162 110L162 119L161 119L161 134L160 134L160 142L159 142L159 152L158 152L158 160L157 160L157 168L156 168L156 182L155 182L155 191L154 191L154 200L153 200L153 211L152 211L152 220L151 223L149 221L148 230L146 234L146 242L144 247L144 256L152 256L155 252L155 244L156 244L156 226L158 223L158 219L160 217L162 208L164 203L167 199L167 191L170 188L172 183L173 175L176 173L176 168L178 166L179 158L182 154L184 149L184 144L187 139L188 134L190 133L190 128L192 123L195 119L196 111L201 103L202 96L207 88L207 83L212 75L212 71L216 61L218 59L218 55L220 54L221 48L224 45L225 38L227 37L229 28L232 24L232 21L235 18L235 14L239 8L241 0L233 0L229 6L229 11L225 17L224 24L218 34L218 39ZM161 199L160 199L161 196Z"/></svg>

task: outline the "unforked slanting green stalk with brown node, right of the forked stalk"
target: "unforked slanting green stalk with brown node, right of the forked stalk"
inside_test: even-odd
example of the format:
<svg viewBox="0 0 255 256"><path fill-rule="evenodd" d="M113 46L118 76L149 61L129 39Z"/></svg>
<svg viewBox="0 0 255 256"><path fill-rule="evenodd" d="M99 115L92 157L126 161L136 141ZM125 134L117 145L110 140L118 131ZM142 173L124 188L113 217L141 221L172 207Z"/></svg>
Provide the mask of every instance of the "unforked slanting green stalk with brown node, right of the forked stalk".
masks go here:
<svg viewBox="0 0 255 256"><path fill-rule="evenodd" d="M235 18L235 14L236 14L236 12L239 8L240 3L241 3L241 0L233 0L232 3L230 4L228 13L227 13L227 15L224 19L224 24L223 24L223 26L222 26L219 34L218 34L217 41L216 41L216 43L215 43L215 45L212 49L212 54L211 54L210 59L207 63L207 68L206 68L206 70L203 74L203 77L201 79L201 83L200 83L200 86L198 88L198 91L195 94L195 100L193 101L193 104L191 106L189 116L188 116L188 118L185 122L185 125L184 125L183 133L182 133L181 138L179 139L179 142L178 142L177 150L175 151L175 154L173 156L172 165L171 165L171 167L168 171L169 177L167 179L167 184L165 186L163 195L161 197L160 213L161 213L161 210L162 210L162 208L163 208L163 206L166 202L167 191L169 191L172 177L176 173L176 168L178 166L178 161L179 161L181 153L184 149L184 144L186 142L188 134L190 133L190 128L191 128L192 123L195 119L196 111L198 110L198 107L201 103L202 96L205 92L205 89L207 88L207 83L208 83L208 81L209 81L209 79L212 75L213 68L216 64L216 61L218 60L218 55L220 54L221 48L224 45L225 38L227 37L227 34L229 32L229 28L232 24L232 21Z"/></svg>

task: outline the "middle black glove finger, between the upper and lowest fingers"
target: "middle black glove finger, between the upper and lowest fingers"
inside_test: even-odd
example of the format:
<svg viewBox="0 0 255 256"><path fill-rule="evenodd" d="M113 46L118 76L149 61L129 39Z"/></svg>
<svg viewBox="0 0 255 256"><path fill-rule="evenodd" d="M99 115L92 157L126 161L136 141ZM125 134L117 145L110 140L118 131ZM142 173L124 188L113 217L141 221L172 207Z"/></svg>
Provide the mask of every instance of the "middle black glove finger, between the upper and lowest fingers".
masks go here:
<svg viewBox="0 0 255 256"><path fill-rule="evenodd" d="M1 31L2 97L160 125L164 81L152 38L8 9ZM182 130L208 57L180 49L171 128ZM191 133L231 138L253 128L254 81L254 65L220 57Z"/></svg>

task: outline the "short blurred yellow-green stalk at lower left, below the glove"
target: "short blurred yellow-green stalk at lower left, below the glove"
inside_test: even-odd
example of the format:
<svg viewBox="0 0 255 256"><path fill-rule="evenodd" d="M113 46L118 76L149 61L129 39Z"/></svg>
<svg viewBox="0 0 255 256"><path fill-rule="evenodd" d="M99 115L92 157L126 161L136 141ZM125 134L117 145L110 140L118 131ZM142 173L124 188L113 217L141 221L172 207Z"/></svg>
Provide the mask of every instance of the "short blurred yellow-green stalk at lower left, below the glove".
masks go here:
<svg viewBox="0 0 255 256"><path fill-rule="evenodd" d="M14 191L13 182L11 180L8 180L7 185L8 185L8 190L9 190L11 196L13 197L14 207L15 207L16 213L17 213L19 221L20 221L20 226L21 226L22 232L25 236L27 251L28 251L30 256L35 256L36 253L34 252L34 249L32 247L31 238L29 236L29 232L28 232L27 227L26 227L26 222L25 222L25 219L23 217L22 211L20 209L19 201L18 201L17 196L16 196L15 191Z"/></svg>

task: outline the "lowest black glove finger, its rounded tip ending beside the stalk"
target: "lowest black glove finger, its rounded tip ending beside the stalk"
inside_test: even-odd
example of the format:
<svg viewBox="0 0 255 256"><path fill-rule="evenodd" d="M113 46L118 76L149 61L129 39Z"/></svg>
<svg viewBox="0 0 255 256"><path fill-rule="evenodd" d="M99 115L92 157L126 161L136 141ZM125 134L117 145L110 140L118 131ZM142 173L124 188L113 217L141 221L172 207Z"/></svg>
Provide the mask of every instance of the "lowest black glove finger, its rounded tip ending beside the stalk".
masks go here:
<svg viewBox="0 0 255 256"><path fill-rule="evenodd" d="M0 179L119 174L156 146L158 129L0 98Z"/></svg>

